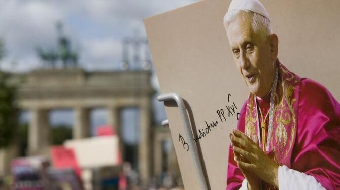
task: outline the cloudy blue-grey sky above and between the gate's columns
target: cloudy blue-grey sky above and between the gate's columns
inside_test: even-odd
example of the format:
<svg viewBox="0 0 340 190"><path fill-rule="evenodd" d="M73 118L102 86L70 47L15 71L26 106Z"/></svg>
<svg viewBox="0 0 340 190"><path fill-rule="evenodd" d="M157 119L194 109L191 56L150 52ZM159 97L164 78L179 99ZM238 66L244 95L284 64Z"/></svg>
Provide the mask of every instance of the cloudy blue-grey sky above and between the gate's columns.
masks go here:
<svg viewBox="0 0 340 190"><path fill-rule="evenodd" d="M0 69L27 72L42 67L35 49L56 48L57 21L63 23L64 34L71 39L72 49L79 53L79 64L84 69L118 69L122 39L146 37L144 18L193 2L195 0L0 0L0 38L6 46ZM158 120L166 117L161 103L154 103L154 107ZM106 124L106 114L106 110L94 110L92 128ZM21 119L27 121L28 118L26 112ZM53 111L50 122L72 125L73 113Z"/></svg>

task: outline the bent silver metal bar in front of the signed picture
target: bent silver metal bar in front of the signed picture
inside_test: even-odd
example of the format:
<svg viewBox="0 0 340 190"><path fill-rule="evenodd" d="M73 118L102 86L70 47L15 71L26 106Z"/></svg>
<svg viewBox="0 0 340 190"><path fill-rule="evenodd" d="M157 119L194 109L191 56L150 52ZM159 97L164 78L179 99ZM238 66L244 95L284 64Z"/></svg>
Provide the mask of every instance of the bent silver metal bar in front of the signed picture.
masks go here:
<svg viewBox="0 0 340 190"><path fill-rule="evenodd" d="M188 145L190 147L190 153L191 153L192 160L194 162L194 166L195 166L196 174L197 174L197 177L198 177L199 185L200 185L202 190L208 190L207 182L206 182L206 179L203 175L202 165L201 165L200 160L199 160L197 147L194 143L194 139L193 139L192 131L191 131L191 126L190 126L189 118L188 118L188 115L187 115L187 112L186 112L186 108L185 108L185 104L183 102L183 99L177 93L161 94L157 97L157 99L158 99L158 101L169 101L169 100L176 101L178 108L180 110L182 122L184 124L184 130L185 130L185 133L186 133L186 136L187 136L187 139L188 139ZM162 125L163 126L168 125L168 123L169 123L168 120L164 120L162 122Z"/></svg>

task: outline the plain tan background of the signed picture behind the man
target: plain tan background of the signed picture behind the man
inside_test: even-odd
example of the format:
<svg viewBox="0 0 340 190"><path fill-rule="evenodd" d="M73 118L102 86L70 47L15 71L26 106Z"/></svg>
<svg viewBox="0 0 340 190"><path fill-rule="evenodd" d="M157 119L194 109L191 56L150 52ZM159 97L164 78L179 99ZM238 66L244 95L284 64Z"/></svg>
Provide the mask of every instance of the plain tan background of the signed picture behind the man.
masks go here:
<svg viewBox="0 0 340 190"><path fill-rule="evenodd" d="M225 189L228 133L248 96L223 27L229 3L206 0L144 20L161 91L185 99L193 136L201 137L196 144L210 189ZM263 4L279 37L281 62L322 83L339 100L340 1ZM165 108L185 189L200 189L179 110Z"/></svg>

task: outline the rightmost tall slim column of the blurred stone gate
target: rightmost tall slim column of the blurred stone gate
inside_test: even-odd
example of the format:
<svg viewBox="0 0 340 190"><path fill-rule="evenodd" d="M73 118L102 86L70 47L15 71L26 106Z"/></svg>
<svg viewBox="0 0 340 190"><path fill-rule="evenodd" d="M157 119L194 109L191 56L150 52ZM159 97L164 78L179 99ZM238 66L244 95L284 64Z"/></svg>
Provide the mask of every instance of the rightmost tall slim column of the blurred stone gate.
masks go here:
<svg viewBox="0 0 340 190"><path fill-rule="evenodd" d="M140 106L140 144L139 151L139 172L142 183L147 183L151 175L151 143L150 124L151 108L150 98L142 97Z"/></svg>

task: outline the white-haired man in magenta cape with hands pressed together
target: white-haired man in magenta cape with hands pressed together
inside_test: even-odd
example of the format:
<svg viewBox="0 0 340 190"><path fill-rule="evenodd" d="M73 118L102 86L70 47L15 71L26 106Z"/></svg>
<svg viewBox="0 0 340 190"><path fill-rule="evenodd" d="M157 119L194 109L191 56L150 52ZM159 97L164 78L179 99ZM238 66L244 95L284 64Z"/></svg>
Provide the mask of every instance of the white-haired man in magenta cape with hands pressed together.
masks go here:
<svg viewBox="0 0 340 190"><path fill-rule="evenodd" d="M279 61L278 36L258 0L233 0L224 26L250 90L229 134L227 189L339 189L340 104Z"/></svg>

